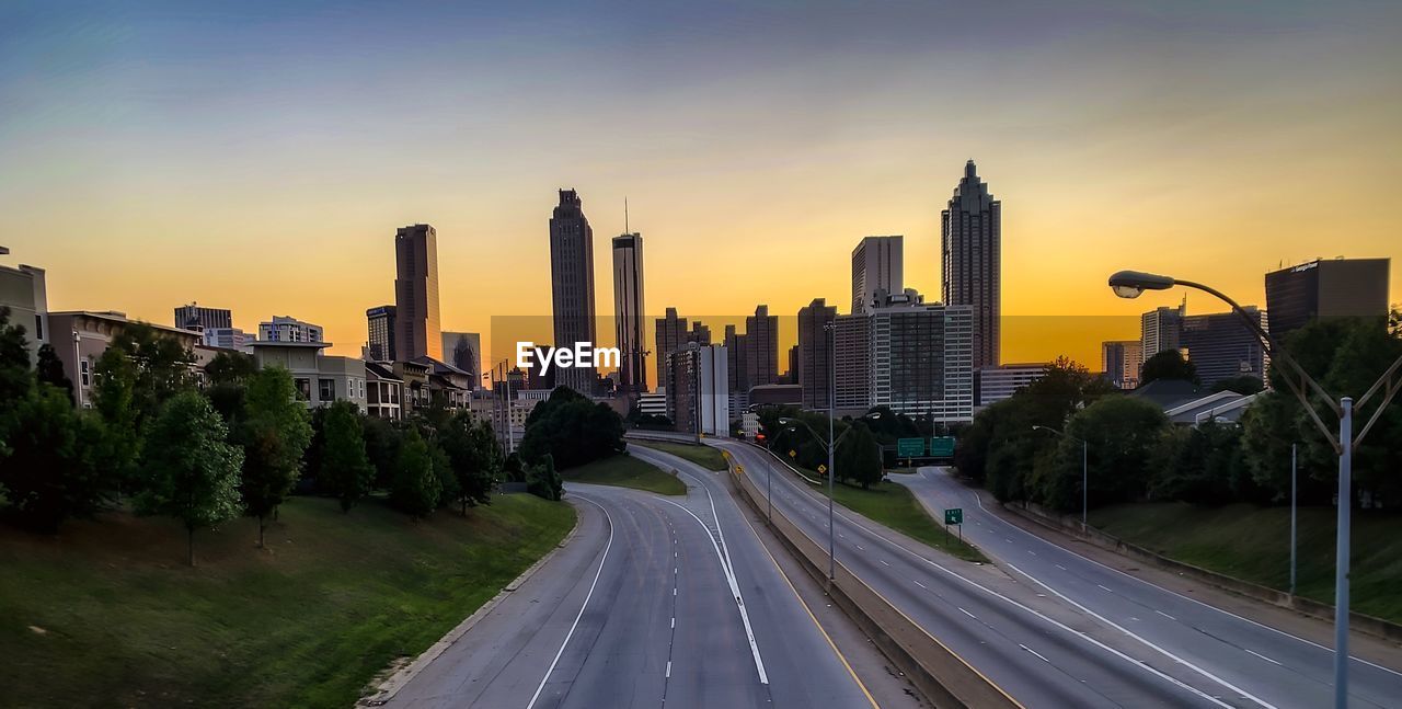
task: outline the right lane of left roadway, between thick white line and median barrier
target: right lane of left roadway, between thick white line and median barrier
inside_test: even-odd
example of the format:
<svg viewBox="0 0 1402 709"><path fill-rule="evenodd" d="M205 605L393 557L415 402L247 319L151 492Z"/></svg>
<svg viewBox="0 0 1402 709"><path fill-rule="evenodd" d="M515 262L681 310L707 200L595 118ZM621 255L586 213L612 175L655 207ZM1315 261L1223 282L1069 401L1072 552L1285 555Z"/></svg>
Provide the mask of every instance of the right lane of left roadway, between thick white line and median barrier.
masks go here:
<svg viewBox="0 0 1402 709"><path fill-rule="evenodd" d="M725 473L641 446L634 455L680 470L683 482L693 487L688 500L695 504L690 508L702 519L716 521L718 545L725 549L743 595L774 705L873 706L730 497Z"/></svg>

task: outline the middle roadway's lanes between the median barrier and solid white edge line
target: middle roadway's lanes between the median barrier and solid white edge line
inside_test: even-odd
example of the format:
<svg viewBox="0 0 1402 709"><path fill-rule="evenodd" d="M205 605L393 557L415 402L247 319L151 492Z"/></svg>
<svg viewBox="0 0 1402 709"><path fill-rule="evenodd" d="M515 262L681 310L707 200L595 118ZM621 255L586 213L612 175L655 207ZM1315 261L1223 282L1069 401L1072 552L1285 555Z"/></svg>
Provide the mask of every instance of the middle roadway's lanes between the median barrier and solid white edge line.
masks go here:
<svg viewBox="0 0 1402 709"><path fill-rule="evenodd" d="M760 482L760 472L773 459L763 451L746 448L729 449ZM778 469L778 463L773 465ZM773 472L778 477L774 482L775 508L815 541L826 541L826 500L799 490L799 483L780 470ZM1016 607L953 580L949 573L928 560L914 559L917 555L904 546L855 524L844 512L836 515L836 529L838 559L848 569L1029 706L1213 705L1182 680L1171 678L1180 674L1178 668L1162 667L1158 670L1162 675L1152 674L1123 650L1098 644L1089 632L1099 629L1084 619L1057 625L1049 616L1035 615L1029 607ZM1232 699L1227 698L1225 703Z"/></svg>

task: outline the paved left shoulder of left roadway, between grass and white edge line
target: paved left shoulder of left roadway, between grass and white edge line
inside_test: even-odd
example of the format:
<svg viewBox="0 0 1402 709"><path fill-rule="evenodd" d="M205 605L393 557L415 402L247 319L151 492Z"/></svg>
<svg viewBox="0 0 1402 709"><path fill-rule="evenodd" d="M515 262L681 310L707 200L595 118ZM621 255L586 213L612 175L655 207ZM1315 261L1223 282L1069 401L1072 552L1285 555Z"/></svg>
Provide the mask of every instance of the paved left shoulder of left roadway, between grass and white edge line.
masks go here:
<svg viewBox="0 0 1402 709"><path fill-rule="evenodd" d="M610 526L603 510L573 503L571 541L387 702L393 708L526 706L572 626Z"/></svg>

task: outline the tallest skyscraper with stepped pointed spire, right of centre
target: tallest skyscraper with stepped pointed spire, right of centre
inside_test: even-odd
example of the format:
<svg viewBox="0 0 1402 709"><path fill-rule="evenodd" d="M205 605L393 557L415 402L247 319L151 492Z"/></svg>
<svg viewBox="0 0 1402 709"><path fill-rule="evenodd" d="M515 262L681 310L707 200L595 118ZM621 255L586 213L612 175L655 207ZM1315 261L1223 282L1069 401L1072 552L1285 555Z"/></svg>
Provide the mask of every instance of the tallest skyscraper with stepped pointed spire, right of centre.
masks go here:
<svg viewBox="0 0 1402 709"><path fill-rule="evenodd" d="M973 366L997 366L1001 357L1002 202L988 192L973 160L965 166L949 206L941 212L941 225L944 302L973 307Z"/></svg>

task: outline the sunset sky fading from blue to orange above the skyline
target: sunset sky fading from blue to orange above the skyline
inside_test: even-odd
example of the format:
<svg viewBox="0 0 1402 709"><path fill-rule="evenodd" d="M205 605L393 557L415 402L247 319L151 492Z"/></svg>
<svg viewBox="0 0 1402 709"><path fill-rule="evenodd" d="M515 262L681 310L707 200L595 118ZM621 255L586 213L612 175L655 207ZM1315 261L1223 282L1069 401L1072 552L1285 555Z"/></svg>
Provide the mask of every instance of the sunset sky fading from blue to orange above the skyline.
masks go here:
<svg viewBox="0 0 1402 709"><path fill-rule="evenodd" d="M1281 264L1402 261L1399 29L1382 1L6 4L0 263L46 268L50 309L198 300L356 355L395 229L426 222L443 329L489 338L550 314L569 187L600 314L624 198L648 312L845 312L868 234L904 234L906 285L939 298L973 159L1004 361L1096 369L1183 296L1119 300L1113 271L1265 305Z"/></svg>

